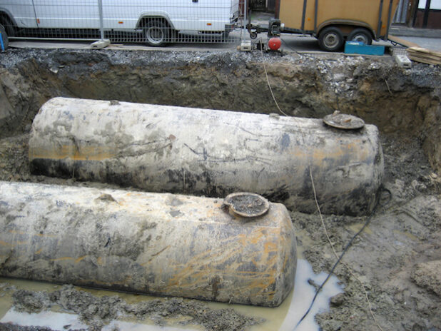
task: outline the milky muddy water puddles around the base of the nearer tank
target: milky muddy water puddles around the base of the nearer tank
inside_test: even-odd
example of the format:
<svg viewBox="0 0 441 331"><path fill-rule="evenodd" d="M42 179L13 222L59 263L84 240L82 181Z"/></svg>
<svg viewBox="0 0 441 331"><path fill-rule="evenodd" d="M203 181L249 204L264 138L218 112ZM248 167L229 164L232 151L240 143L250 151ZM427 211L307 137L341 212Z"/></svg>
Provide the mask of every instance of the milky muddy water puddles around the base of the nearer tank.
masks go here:
<svg viewBox="0 0 441 331"><path fill-rule="evenodd" d="M327 275L320 273L315 275L311 265L303 259L298 260L297 273L295 276L295 290L291 292L287 299L277 308L267 307L253 307L245 305L228 305L218 302L204 302L211 309L233 309L236 312L250 316L264 318L266 321L260 325L250 327L250 331L292 331L295 325L297 325L300 318L308 310L311 300L315 294L315 287L310 285L308 280L312 280L315 284L320 285ZM0 288L0 322L11 322L22 326L41 326L51 327L53 330L67 330L67 329L86 329L87 326L81 322L78 315L69 314L66 312L45 311L40 313L25 313L17 312L12 307L11 295L14 290L26 289L33 291L46 290L52 292L61 288L60 285L51 285L44 282L31 282L25 280L12 280L9 278L1 278ZM5 283L8 283L6 285ZM126 302L140 302L143 300L153 300L153 297L144 295L132 295L128 293L118 293L103 290L90 290L81 289L91 292L93 295L118 295ZM329 309L330 297L343 292L342 287L339 285L338 278L335 276L330 277L328 283L323 287L323 290L315 300L313 309L310 311L308 317L303 320L296 331L315 331L319 330L318 325L315 323L314 316L318 312L324 312ZM153 325L152 321L147 320L135 320L124 319L114 320L106 327L103 327L104 331L112 330L163 330L163 331L178 331L178 330L203 330L200 326L188 326L182 327L178 325L178 320L168 321L171 326L161 327ZM69 325L66 329L66 325Z"/></svg>

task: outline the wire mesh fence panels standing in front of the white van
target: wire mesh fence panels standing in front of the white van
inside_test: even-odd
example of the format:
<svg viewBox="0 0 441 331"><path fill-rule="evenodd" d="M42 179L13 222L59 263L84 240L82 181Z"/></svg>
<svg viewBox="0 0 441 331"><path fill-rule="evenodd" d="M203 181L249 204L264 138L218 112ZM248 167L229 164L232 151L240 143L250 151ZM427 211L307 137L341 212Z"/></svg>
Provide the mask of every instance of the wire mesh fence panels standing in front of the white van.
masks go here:
<svg viewBox="0 0 441 331"><path fill-rule="evenodd" d="M0 24L9 39L238 44L246 1L0 0Z"/></svg>

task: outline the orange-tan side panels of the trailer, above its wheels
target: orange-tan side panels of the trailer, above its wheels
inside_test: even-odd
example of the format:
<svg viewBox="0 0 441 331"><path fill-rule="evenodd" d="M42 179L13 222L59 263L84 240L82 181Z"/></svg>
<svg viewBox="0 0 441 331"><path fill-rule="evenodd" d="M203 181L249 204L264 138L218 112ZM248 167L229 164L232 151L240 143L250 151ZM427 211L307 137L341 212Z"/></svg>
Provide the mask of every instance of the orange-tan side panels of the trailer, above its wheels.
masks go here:
<svg viewBox="0 0 441 331"><path fill-rule="evenodd" d="M399 0L392 2L392 16ZM390 1L383 1L380 36L385 36L387 30L387 16ZM315 0L308 0L305 16L305 31L314 30ZM280 20L286 27L302 28L303 0L280 0ZM319 0L318 23L320 26L326 21L351 20L360 21L370 26L377 33L378 17L380 15L380 0Z"/></svg>

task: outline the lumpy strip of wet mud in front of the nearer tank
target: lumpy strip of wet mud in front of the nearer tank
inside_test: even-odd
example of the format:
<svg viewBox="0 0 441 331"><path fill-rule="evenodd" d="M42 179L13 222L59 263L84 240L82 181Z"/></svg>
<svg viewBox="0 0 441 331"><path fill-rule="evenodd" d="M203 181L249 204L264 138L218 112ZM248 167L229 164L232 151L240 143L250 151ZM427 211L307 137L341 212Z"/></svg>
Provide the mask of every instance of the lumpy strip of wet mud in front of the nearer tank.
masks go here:
<svg viewBox="0 0 441 331"><path fill-rule="evenodd" d="M91 330L101 330L103 325L122 315L139 320L150 319L156 325L167 325L172 318L187 317L180 322L181 325L198 324L206 330L243 330L260 322L232 309L210 309L196 300L184 301L173 297L129 304L118 296L96 297L89 292L76 290L72 285L64 285L50 293L18 290L13 298L16 310L20 311L40 312L56 305L75 312L90 325Z"/></svg>

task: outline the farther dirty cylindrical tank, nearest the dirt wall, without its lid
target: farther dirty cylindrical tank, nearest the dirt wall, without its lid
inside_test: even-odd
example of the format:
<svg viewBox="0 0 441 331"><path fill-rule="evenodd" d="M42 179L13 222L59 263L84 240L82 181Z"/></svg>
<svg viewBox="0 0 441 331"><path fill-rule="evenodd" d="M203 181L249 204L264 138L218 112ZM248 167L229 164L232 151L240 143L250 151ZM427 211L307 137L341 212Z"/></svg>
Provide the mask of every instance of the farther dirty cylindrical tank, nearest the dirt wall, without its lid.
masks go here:
<svg viewBox="0 0 441 331"><path fill-rule="evenodd" d="M29 139L33 173L153 192L264 195L314 212L369 214L382 180L375 126L254 113L53 98Z"/></svg>

